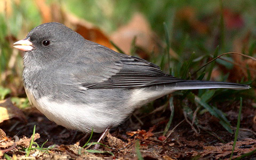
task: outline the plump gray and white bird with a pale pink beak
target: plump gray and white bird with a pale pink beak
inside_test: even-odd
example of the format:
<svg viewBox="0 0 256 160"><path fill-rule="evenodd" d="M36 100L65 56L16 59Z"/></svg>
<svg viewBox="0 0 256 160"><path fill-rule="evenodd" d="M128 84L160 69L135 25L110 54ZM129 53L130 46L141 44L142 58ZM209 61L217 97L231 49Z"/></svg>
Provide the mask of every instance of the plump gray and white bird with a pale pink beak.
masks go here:
<svg viewBox="0 0 256 160"><path fill-rule="evenodd" d="M34 28L14 45L25 51L23 82L29 102L51 121L83 132L115 127L135 108L175 90L250 88L175 78L57 22Z"/></svg>

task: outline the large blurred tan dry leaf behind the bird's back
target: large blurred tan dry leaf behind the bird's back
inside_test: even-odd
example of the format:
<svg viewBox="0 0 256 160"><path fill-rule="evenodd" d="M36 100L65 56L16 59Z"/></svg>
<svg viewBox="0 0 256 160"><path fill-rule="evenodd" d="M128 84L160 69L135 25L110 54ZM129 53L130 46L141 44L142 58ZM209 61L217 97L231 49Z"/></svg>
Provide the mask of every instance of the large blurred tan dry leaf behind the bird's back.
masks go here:
<svg viewBox="0 0 256 160"><path fill-rule="evenodd" d="M146 18L141 13L135 13L131 21L126 25L120 27L110 39L121 48L124 53L131 54L132 41L136 37L135 44L146 52L150 53L152 50L157 52L157 44L159 43L156 34L151 30ZM142 58L145 58L145 53L141 53Z"/></svg>

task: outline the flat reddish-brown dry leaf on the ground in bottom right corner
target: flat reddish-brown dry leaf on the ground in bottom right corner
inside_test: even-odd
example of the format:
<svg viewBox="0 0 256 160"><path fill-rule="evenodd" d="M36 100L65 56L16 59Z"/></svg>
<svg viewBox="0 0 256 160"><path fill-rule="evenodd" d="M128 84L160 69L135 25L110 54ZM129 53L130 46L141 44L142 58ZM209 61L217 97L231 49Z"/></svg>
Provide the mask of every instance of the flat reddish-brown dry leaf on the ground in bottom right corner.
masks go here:
<svg viewBox="0 0 256 160"><path fill-rule="evenodd" d="M246 147L244 147L246 146ZM245 153L249 153L250 151L256 148L256 140L251 138L246 138L241 141L236 142L236 147L234 150L235 155L233 158L237 158ZM225 156L230 155L233 149L233 142L229 142L228 144L217 144L216 146L203 146L203 151L200 152L202 157L207 155L212 155L218 158L225 158Z"/></svg>

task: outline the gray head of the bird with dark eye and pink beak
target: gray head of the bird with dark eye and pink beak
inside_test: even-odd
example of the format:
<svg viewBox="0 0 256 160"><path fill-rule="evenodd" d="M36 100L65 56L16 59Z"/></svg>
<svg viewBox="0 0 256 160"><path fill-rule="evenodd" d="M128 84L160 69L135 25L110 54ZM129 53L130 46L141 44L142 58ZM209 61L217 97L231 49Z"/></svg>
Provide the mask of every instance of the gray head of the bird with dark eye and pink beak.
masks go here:
<svg viewBox="0 0 256 160"><path fill-rule="evenodd" d="M65 58L72 49L82 46L84 38L58 22L44 23L31 30L26 39L17 41L15 48L26 51L24 65L46 65Z"/></svg>

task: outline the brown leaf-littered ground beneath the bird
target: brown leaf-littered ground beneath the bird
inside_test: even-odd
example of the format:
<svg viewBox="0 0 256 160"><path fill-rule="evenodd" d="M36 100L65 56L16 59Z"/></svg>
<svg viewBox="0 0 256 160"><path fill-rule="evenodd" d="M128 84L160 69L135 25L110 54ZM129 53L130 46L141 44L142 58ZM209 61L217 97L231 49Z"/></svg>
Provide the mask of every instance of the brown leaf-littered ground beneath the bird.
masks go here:
<svg viewBox="0 0 256 160"><path fill-rule="evenodd" d="M238 140L233 158L249 153L256 147L255 123L252 121L256 113L256 108L252 107L252 102L247 100L243 103L241 127L238 134ZM222 103L223 106L227 105ZM239 110L239 102L229 104L226 110L228 119L232 126L236 126ZM156 107L157 108L157 107ZM230 134L220 124L219 120L209 113L198 116L199 125L191 125L180 114L179 108L175 108L174 119L170 131L163 136L163 130L169 120L170 111L159 110L154 113L141 113L141 110L135 111L126 122L119 127L111 129L111 135L108 135L102 143L108 147L100 146L95 153L93 146L84 148L79 153L79 149L85 144L89 136L78 131L68 130L54 122L48 120L36 108L29 107L23 110L28 123L23 123L17 119L11 119L1 123L0 128L6 133L9 139L6 142L14 142L15 136L26 140L25 137L31 137L34 125L36 125L37 138L35 141L42 145L48 140L43 148L50 147L47 151L32 149L29 157L37 159L226 159L230 157L233 147L234 134ZM254 113L254 114L252 114ZM137 118L135 118L137 117ZM139 122L139 121L140 122ZM181 122L181 123L180 123ZM180 124L179 124L180 123ZM235 130L236 128L234 128ZM171 134L170 134L171 133ZM170 134L169 137L167 135ZM91 142L97 141L100 134L93 133ZM13 138L13 139L11 139ZM28 139L30 142L30 139ZM19 141L16 140L17 144ZM2 144L3 145L3 142ZM6 155L11 157L25 157L25 148L27 144L19 144ZM10 148L6 147L7 149ZM34 147L36 147L34 145ZM93 153L90 153L93 152ZM5 155L5 157L6 157ZM250 157L255 157L253 154Z"/></svg>

